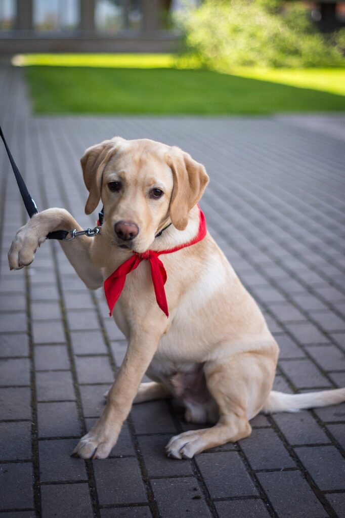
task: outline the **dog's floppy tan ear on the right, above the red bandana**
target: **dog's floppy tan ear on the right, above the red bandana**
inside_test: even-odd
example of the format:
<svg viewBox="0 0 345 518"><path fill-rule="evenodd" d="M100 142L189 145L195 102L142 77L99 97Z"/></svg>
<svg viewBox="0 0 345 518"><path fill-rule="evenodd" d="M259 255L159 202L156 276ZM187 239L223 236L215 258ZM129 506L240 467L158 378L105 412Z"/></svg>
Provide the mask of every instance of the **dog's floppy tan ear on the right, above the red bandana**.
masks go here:
<svg viewBox="0 0 345 518"><path fill-rule="evenodd" d="M175 147L171 148L171 151L165 155L174 177L170 219L178 230L184 230L188 223L189 211L202 197L209 177L205 167L193 160L191 155Z"/></svg>

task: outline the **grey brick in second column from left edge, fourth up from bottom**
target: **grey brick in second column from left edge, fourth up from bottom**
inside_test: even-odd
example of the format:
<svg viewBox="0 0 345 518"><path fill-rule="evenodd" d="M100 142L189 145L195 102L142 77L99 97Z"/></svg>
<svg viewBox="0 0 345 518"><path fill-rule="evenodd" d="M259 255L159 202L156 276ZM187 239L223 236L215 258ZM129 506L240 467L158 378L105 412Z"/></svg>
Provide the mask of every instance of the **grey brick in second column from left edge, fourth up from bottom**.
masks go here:
<svg viewBox="0 0 345 518"><path fill-rule="evenodd" d="M76 399L69 370L36 372L37 401L73 401Z"/></svg>

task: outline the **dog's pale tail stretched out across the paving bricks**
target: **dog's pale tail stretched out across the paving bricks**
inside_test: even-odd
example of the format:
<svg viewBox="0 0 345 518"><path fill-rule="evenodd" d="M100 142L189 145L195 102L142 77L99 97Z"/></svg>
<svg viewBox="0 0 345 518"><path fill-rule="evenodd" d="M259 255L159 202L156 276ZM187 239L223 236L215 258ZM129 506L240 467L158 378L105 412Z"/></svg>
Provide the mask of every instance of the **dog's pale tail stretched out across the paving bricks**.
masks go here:
<svg viewBox="0 0 345 518"><path fill-rule="evenodd" d="M262 412L297 412L307 408L327 407L345 401L345 389L309 392L307 394L284 394L271 391Z"/></svg>

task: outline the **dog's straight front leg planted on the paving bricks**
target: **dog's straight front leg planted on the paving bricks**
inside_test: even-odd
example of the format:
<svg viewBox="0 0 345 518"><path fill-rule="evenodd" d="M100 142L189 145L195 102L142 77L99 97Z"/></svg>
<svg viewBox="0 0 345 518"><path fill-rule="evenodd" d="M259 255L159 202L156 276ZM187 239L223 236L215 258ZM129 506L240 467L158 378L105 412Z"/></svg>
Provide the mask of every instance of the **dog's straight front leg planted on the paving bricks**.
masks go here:
<svg viewBox="0 0 345 518"><path fill-rule="evenodd" d="M116 381L108 393L103 414L89 433L80 439L74 456L106 458L109 455L130 413L139 383L150 365L161 334L157 334L157 329L154 333L141 331L130 339Z"/></svg>

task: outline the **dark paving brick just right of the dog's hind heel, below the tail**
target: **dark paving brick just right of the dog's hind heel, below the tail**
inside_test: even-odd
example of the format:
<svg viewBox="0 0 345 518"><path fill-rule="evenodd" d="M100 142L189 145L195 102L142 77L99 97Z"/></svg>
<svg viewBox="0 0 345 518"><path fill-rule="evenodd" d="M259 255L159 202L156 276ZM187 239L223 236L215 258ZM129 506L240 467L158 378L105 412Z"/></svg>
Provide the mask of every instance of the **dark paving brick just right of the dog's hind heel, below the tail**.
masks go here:
<svg viewBox="0 0 345 518"><path fill-rule="evenodd" d="M281 469L296 466L278 435L270 428L253 430L252 435L239 441L239 444L252 469Z"/></svg>

